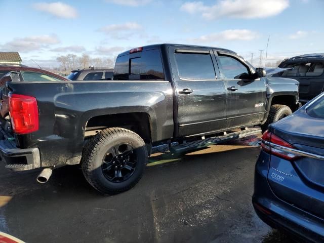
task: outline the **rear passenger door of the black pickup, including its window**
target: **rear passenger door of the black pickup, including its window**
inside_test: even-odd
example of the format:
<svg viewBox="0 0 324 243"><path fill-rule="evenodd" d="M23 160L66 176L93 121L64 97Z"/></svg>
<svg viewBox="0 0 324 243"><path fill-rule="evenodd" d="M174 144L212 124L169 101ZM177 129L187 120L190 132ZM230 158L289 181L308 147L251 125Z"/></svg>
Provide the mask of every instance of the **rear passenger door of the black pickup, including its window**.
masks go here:
<svg viewBox="0 0 324 243"><path fill-rule="evenodd" d="M169 47L169 58L177 97L180 136L224 129L226 99L223 80L211 49Z"/></svg>

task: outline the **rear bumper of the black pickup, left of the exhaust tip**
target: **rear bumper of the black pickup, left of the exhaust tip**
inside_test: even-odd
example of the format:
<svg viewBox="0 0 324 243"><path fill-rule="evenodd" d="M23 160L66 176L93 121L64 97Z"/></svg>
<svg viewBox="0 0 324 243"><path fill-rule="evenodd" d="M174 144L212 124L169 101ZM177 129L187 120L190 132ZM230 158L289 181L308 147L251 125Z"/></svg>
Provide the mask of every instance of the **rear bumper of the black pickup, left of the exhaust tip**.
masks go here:
<svg viewBox="0 0 324 243"><path fill-rule="evenodd" d="M0 140L0 157L6 168L12 171L26 171L41 167L38 148L17 148L14 142Z"/></svg>

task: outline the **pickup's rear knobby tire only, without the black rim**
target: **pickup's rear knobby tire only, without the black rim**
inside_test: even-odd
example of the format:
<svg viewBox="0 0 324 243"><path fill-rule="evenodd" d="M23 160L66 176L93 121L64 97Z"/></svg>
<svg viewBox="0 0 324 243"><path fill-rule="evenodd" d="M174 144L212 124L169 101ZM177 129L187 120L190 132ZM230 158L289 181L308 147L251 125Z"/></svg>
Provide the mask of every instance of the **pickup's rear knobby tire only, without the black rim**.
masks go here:
<svg viewBox="0 0 324 243"><path fill-rule="evenodd" d="M117 143L128 143L136 148L137 168L126 181L112 182L103 174L101 169L103 156L107 149ZM102 130L90 138L83 149L81 166L86 180L102 194L117 194L135 186L142 178L147 164L147 148L143 139L136 133L123 128Z"/></svg>

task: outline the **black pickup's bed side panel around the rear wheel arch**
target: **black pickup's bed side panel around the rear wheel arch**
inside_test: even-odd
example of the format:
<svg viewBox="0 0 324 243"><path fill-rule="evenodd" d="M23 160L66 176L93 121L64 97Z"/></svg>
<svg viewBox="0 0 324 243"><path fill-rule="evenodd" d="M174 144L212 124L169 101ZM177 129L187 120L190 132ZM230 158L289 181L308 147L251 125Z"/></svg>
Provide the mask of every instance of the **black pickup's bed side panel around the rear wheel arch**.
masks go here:
<svg viewBox="0 0 324 243"><path fill-rule="evenodd" d="M79 159L87 121L129 112L149 115L152 141L173 135L172 88L168 81L9 83L12 93L37 99L39 130L16 135L21 148L38 147L42 166Z"/></svg>

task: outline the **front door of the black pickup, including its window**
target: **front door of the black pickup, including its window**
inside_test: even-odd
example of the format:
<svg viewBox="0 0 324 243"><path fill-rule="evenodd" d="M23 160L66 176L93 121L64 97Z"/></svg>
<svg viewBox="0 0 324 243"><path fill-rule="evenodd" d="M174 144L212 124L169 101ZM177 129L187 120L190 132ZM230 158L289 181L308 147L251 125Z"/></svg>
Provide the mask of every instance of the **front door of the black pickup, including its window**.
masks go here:
<svg viewBox="0 0 324 243"><path fill-rule="evenodd" d="M227 127L260 123L264 118L266 85L252 78L252 68L233 53L214 50L226 89Z"/></svg>

